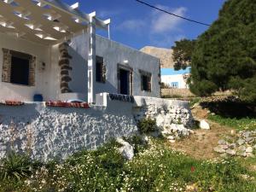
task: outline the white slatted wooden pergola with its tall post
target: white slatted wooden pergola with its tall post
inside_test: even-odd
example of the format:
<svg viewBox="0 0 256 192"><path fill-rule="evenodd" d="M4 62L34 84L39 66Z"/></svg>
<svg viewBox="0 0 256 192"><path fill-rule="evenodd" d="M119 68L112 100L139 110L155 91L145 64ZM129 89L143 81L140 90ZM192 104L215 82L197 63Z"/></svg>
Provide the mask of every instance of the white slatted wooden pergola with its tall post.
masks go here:
<svg viewBox="0 0 256 192"><path fill-rule="evenodd" d="M0 33L37 44L54 45L87 32L88 102L95 102L96 28L108 30L110 19L100 20L96 12L84 14L79 3L61 0L0 0Z"/></svg>

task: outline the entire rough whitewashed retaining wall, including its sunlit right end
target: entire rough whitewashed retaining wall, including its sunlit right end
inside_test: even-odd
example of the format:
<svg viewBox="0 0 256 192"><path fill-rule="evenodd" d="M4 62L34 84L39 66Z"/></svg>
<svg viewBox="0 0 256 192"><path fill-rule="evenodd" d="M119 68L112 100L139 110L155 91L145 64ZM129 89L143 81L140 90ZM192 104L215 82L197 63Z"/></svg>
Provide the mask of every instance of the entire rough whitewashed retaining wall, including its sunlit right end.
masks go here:
<svg viewBox="0 0 256 192"><path fill-rule="evenodd" d="M102 106L90 108L0 105L0 158L13 149L36 160L65 159L82 148L136 134L144 117L156 119L162 130L176 124L189 128L193 120L188 102L142 96L122 102L102 95Z"/></svg>

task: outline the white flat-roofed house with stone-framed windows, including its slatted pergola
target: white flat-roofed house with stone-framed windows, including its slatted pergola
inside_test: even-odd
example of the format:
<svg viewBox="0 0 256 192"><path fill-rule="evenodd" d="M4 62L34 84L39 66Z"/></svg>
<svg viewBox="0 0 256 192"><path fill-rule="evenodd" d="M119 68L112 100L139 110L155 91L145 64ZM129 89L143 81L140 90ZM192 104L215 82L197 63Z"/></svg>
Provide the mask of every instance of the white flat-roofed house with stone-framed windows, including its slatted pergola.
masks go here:
<svg viewBox="0 0 256 192"><path fill-rule="evenodd" d="M160 61L96 35L110 20L60 0L0 0L0 100L160 96Z"/></svg>

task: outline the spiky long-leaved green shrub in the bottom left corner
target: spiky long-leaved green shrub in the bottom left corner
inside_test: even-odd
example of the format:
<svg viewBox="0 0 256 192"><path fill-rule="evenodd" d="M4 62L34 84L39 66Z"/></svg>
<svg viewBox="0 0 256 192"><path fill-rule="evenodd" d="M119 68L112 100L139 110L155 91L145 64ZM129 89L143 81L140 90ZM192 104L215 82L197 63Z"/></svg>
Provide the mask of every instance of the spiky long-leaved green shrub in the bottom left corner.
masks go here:
<svg viewBox="0 0 256 192"><path fill-rule="evenodd" d="M20 181L32 174L32 162L25 154L11 152L2 160L0 178L4 180L15 179Z"/></svg>

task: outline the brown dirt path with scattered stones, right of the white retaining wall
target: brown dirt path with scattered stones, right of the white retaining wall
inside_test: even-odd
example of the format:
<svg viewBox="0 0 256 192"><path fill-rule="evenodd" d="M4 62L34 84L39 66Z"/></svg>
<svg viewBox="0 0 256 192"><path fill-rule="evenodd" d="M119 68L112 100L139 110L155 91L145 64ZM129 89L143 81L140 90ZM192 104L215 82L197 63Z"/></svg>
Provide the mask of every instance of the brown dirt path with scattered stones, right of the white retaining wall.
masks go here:
<svg viewBox="0 0 256 192"><path fill-rule="evenodd" d="M195 119L207 119L207 108L195 104L192 109ZM169 145L196 159L212 159L227 156L252 157L256 151L256 131L236 131L231 127L206 120L210 130L196 129L188 139L176 140Z"/></svg>

